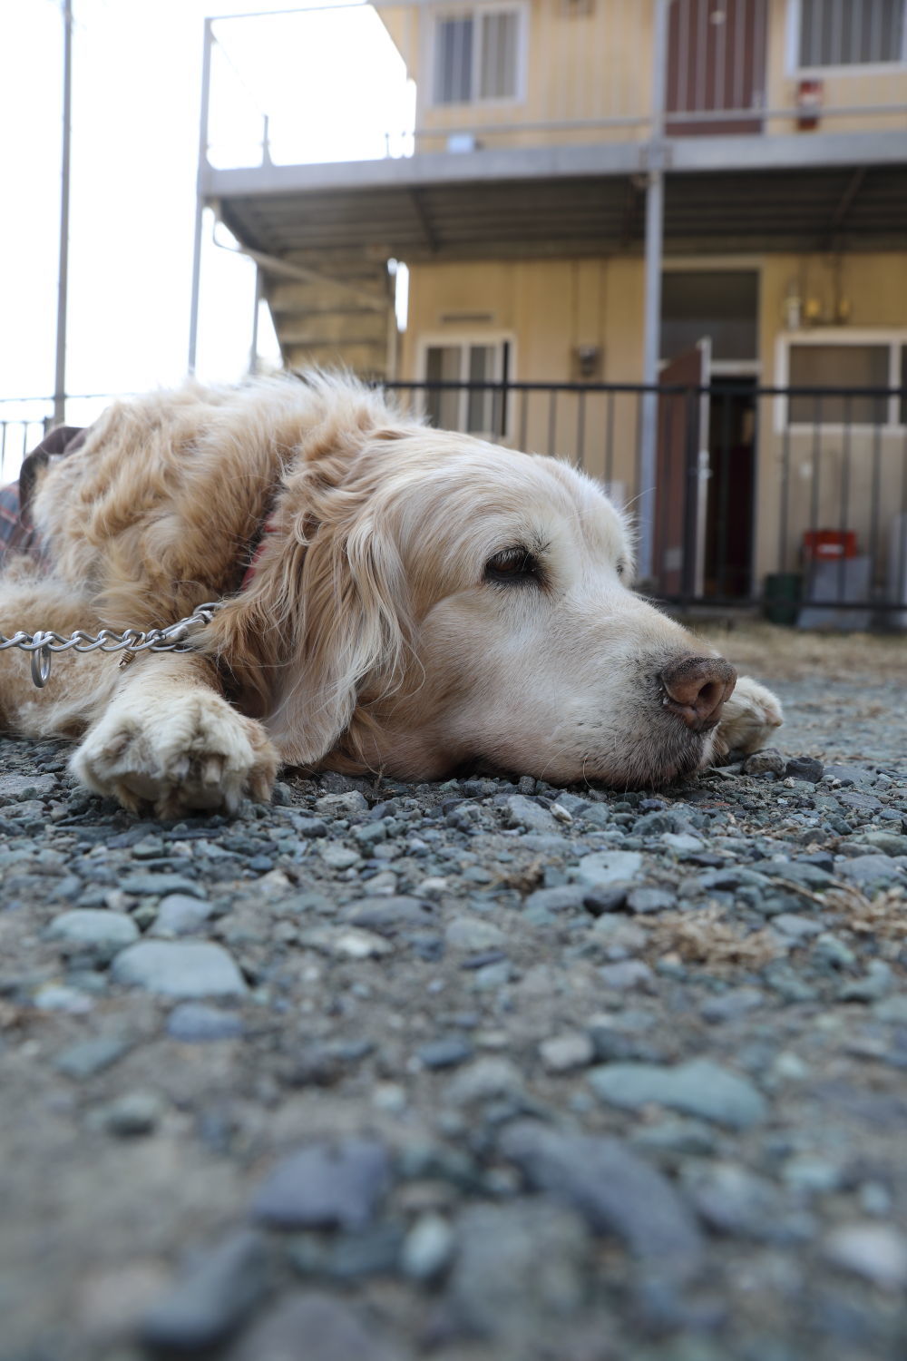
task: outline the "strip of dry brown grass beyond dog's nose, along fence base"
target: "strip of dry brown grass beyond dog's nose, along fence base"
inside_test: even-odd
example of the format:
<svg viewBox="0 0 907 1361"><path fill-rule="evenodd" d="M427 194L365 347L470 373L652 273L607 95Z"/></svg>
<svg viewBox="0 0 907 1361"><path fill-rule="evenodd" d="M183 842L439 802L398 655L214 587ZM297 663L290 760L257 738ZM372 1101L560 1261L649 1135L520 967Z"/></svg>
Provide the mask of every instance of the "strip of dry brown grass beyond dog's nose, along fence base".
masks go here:
<svg viewBox="0 0 907 1361"><path fill-rule="evenodd" d="M806 633L761 621L695 622L694 629L760 680L907 679L907 636Z"/></svg>

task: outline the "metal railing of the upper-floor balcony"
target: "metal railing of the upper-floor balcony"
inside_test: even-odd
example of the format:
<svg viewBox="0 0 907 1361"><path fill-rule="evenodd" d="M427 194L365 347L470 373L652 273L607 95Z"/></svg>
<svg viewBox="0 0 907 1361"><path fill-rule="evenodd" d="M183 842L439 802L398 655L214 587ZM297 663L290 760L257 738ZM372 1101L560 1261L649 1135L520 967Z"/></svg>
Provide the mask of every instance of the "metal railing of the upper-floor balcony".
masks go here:
<svg viewBox="0 0 907 1361"><path fill-rule="evenodd" d="M209 20L207 158L907 127L907 0L670 0L661 73L660 3L340 0Z"/></svg>

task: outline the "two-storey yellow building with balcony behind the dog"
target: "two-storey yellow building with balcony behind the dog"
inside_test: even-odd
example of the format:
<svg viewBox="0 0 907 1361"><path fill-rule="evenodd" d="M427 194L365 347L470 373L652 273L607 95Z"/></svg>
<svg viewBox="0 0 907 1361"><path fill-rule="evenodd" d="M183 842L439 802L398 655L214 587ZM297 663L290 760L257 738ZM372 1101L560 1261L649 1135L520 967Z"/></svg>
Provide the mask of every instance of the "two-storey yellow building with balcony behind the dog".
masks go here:
<svg viewBox="0 0 907 1361"><path fill-rule="evenodd" d="M287 363L428 384L412 400L437 422L583 464L635 501L666 596L757 597L816 534L868 561L866 599L891 595L906 0L371 8L415 86L386 155L203 157L201 201L256 252Z"/></svg>

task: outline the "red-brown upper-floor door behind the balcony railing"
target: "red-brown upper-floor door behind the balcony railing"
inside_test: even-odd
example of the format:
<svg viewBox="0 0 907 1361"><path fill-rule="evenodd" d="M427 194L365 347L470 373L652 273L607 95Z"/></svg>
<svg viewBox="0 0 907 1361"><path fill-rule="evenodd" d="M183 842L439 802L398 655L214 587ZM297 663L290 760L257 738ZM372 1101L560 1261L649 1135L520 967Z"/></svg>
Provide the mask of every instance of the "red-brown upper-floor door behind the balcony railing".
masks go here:
<svg viewBox="0 0 907 1361"><path fill-rule="evenodd" d="M767 23L768 0L673 0L666 72L669 136L761 132ZM722 118L722 110L752 110L752 117Z"/></svg>

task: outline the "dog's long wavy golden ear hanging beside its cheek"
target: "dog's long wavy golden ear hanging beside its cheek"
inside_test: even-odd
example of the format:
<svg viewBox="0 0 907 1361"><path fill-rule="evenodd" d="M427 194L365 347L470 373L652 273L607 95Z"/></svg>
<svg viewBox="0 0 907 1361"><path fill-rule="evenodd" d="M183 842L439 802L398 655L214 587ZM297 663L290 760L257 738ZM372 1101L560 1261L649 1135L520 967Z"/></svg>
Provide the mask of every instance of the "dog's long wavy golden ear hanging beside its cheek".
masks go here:
<svg viewBox="0 0 907 1361"><path fill-rule="evenodd" d="M309 468L275 516L250 587L215 615L201 648L243 710L265 721L290 765L321 761L363 687L403 675L407 583L388 516L347 479ZM301 494L305 493L305 494ZM295 516L288 502L303 504Z"/></svg>

